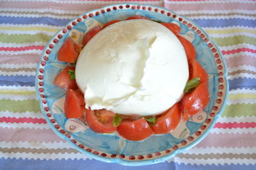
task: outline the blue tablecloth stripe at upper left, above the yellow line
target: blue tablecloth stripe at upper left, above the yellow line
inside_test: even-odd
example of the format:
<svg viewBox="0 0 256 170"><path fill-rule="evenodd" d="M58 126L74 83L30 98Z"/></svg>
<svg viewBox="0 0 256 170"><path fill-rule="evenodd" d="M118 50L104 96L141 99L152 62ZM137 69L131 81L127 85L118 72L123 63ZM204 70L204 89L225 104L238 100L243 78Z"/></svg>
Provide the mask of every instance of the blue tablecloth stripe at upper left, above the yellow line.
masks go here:
<svg viewBox="0 0 256 170"><path fill-rule="evenodd" d="M49 17L1 17L0 24L45 24L63 26L70 20L68 19L56 19Z"/></svg>

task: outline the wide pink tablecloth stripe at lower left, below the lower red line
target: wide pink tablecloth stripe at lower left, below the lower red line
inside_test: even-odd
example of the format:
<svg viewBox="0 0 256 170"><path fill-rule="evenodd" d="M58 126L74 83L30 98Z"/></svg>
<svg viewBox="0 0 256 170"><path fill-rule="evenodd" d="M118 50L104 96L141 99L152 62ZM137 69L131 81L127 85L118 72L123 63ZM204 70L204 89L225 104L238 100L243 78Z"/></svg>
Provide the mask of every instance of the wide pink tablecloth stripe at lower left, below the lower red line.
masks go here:
<svg viewBox="0 0 256 170"><path fill-rule="evenodd" d="M51 129L29 129L29 128L7 128L0 127L0 141L15 142L15 141L28 141L28 142L65 142Z"/></svg>

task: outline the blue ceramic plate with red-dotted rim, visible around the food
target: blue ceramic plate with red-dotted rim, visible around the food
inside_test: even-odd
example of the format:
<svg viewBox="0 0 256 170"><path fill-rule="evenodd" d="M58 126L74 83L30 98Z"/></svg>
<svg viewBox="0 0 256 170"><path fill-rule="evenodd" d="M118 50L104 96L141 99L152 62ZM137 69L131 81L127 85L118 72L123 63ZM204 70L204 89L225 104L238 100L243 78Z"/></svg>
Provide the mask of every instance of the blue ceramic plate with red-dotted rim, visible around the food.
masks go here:
<svg viewBox="0 0 256 170"><path fill-rule="evenodd" d="M67 119L63 112L65 93L53 84L55 76L67 66L67 63L57 60L58 50L65 39L71 37L81 43L83 34L95 25L104 25L111 20L125 20L132 15L144 15L153 20L179 25L180 35L193 43L196 60L209 74L211 101L204 111L193 115L187 122L180 121L177 129L170 134L152 135L143 141L128 141L117 134L97 134L88 128L85 118ZM38 64L36 93L52 130L79 152L104 162L141 166L171 159L205 138L227 101L227 66L218 46L192 20L159 6L113 4L74 18L52 37Z"/></svg>

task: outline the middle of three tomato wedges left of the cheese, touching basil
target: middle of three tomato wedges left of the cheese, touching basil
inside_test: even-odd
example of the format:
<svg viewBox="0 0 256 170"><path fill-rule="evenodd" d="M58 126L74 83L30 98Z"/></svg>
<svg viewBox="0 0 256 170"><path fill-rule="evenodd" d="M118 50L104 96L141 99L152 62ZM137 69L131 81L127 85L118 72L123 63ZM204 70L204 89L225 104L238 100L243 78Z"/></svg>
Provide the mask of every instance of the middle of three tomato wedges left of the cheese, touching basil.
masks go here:
<svg viewBox="0 0 256 170"><path fill-rule="evenodd" d="M68 89L77 89L76 79L71 80L69 70L75 71L75 67L65 67L54 79L54 85L68 90Z"/></svg>

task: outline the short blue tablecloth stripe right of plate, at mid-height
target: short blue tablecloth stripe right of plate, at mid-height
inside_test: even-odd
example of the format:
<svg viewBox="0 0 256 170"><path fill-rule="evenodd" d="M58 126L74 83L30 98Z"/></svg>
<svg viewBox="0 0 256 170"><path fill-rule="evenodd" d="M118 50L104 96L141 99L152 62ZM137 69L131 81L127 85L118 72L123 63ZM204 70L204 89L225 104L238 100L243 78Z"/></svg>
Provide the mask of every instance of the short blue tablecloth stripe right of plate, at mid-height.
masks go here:
<svg viewBox="0 0 256 170"><path fill-rule="evenodd" d="M234 78L234 80L228 80L229 90L236 89L256 89L256 79L255 78Z"/></svg>

